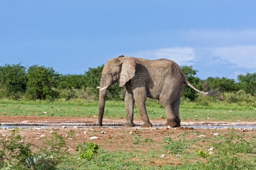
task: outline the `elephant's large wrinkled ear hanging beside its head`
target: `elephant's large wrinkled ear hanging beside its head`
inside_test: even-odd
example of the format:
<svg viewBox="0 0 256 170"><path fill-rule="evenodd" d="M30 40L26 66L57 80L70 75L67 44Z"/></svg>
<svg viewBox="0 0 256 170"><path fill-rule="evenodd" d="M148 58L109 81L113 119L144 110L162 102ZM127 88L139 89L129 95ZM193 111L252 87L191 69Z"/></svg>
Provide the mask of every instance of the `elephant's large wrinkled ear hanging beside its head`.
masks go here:
<svg viewBox="0 0 256 170"><path fill-rule="evenodd" d="M120 58L121 60L121 58ZM122 57L121 72L119 77L119 87L125 85L135 74L136 62L133 57Z"/></svg>

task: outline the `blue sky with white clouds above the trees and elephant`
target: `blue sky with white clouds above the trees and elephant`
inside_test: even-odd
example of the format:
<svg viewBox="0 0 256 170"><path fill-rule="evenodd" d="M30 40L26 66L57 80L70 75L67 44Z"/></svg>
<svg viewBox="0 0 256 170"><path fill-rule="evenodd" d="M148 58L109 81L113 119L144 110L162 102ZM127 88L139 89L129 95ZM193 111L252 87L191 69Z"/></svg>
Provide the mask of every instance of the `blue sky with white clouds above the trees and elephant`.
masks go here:
<svg viewBox="0 0 256 170"><path fill-rule="evenodd" d="M84 74L117 55L167 58L197 76L256 72L256 1L0 1L0 65Z"/></svg>

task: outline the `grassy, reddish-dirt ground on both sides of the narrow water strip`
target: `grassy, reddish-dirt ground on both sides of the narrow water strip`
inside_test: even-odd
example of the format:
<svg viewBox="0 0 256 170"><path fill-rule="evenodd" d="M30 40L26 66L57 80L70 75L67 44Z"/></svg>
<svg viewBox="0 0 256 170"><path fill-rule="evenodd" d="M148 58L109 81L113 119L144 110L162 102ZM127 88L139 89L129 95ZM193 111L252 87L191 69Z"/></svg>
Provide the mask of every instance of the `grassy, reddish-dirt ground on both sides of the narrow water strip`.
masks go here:
<svg viewBox="0 0 256 170"><path fill-rule="evenodd" d="M147 100L150 121L164 108ZM181 101L181 122L256 122L253 103ZM0 122L97 124L97 100L0 100ZM124 123L124 101L107 100L103 123ZM135 124L142 123L134 108ZM0 128L0 169L256 169L253 128Z"/></svg>

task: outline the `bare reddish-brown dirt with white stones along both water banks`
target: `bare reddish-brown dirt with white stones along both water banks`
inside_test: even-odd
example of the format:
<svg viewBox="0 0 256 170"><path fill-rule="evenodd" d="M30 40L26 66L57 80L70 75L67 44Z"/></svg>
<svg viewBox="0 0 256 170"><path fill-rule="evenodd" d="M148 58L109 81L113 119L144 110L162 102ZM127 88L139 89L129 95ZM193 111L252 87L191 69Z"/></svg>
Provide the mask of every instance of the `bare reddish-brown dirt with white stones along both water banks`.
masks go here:
<svg viewBox="0 0 256 170"><path fill-rule="evenodd" d="M27 116L0 116L0 122L45 122L45 123L97 123L97 118L83 118L83 117L27 117ZM103 122L119 122L124 123L124 119L104 119ZM153 120L152 123L165 123L165 120ZM141 120L135 120L134 123L142 123ZM242 123L242 122L240 122ZM247 122L246 122L247 123ZM243 123L243 124L246 124ZM252 122L252 124L255 122ZM208 122L208 124L210 124ZM216 124L216 122L215 122ZM248 124L248 123L247 123ZM185 133L185 131L187 131ZM152 148L159 150L154 158L148 160L152 165L156 164L170 164L177 166L182 163L181 159L178 159L176 155L170 154L164 151L163 145L164 139L171 137L173 140L179 140L181 137L185 139L194 139L199 135L205 137L214 138L214 133L219 135L225 135L230 131L228 128L212 129L212 128L188 128L182 126L180 128L167 128L167 127L152 127L152 128L139 128L139 127L88 127L88 128L25 128L20 129L20 135L24 143L31 143L39 145L42 143L40 138L50 138L52 133L55 132L66 139L66 147L70 152L76 152L76 146L79 143L84 142L96 142L100 147L106 151L134 151L134 152L150 152ZM250 140L252 136L255 136L255 130L253 129L235 129L237 134L243 135L244 138ZM8 128L0 128L0 139L6 139L10 137L12 131ZM42 136L43 135L43 136ZM216 135L216 134L215 134ZM99 137L98 139L90 140L91 137ZM203 137L204 137L203 136ZM209 139L210 140L210 139ZM197 141L195 147L197 150L205 150L205 144L209 144L207 141ZM193 147L193 146L191 146ZM195 150L191 150L195 152ZM164 154L163 157L161 155ZM181 155L182 157L182 155ZM134 158L136 159L136 158ZM145 158L146 159L146 158ZM193 161L193 160L191 160Z"/></svg>

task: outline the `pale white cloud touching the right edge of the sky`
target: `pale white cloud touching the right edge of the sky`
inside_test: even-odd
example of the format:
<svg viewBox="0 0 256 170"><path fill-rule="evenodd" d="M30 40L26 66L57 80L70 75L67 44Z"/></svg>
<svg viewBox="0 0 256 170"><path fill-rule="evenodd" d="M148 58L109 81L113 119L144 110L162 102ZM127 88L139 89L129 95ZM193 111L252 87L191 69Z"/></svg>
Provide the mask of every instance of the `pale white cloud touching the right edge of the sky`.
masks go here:
<svg viewBox="0 0 256 170"><path fill-rule="evenodd" d="M219 56L238 67L256 68L256 45L209 48L212 56Z"/></svg>

